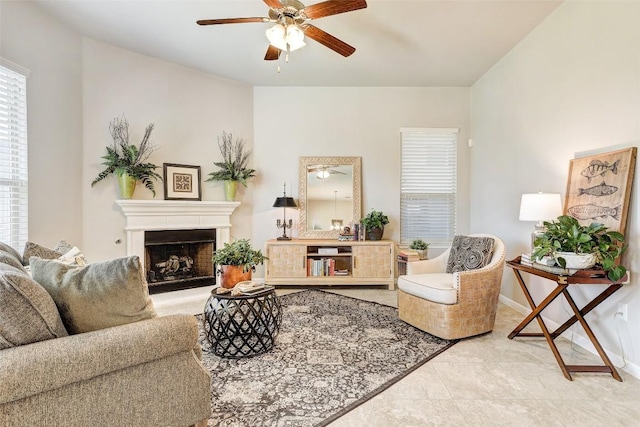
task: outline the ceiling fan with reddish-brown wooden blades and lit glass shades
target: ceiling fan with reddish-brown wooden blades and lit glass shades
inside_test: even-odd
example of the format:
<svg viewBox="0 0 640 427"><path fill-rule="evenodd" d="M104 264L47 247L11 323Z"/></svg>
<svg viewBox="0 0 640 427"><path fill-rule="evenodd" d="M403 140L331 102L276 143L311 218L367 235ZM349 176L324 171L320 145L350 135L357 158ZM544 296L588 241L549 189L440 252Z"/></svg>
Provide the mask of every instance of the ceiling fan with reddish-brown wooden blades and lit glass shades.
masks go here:
<svg viewBox="0 0 640 427"><path fill-rule="evenodd" d="M305 46L304 36L325 45L342 56L349 56L356 48L311 25L310 21L325 16L351 12L367 7L365 0L328 0L305 6L298 0L263 0L269 6L269 17L203 19L198 25L243 24L247 22L275 23L266 31L269 47L265 61L276 60L284 50L290 52Z"/></svg>

